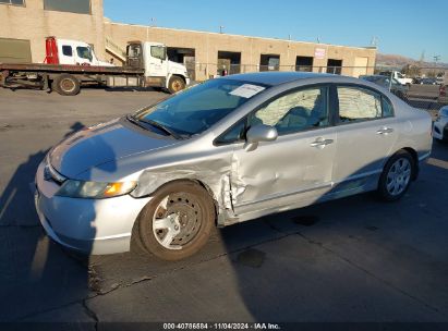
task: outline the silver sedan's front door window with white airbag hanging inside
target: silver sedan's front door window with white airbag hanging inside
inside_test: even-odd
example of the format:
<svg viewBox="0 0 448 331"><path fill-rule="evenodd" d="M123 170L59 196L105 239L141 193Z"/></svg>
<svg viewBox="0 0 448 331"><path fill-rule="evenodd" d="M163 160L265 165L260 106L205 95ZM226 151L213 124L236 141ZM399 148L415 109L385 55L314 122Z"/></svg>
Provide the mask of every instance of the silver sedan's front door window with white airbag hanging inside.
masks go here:
<svg viewBox="0 0 448 331"><path fill-rule="evenodd" d="M279 135L329 125L328 88L315 87L289 93L256 111L249 126L266 124Z"/></svg>

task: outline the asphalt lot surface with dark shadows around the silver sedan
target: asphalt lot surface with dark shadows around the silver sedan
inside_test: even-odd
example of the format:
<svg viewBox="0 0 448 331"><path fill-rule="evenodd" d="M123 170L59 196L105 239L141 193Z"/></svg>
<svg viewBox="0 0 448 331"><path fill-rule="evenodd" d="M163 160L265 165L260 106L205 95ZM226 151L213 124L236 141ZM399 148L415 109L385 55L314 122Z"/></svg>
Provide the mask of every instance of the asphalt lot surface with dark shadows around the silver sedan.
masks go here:
<svg viewBox="0 0 448 331"><path fill-rule="evenodd" d="M50 242L31 191L47 150L166 97L0 89L0 321L448 322L445 144L399 203L363 194L216 230L183 261Z"/></svg>

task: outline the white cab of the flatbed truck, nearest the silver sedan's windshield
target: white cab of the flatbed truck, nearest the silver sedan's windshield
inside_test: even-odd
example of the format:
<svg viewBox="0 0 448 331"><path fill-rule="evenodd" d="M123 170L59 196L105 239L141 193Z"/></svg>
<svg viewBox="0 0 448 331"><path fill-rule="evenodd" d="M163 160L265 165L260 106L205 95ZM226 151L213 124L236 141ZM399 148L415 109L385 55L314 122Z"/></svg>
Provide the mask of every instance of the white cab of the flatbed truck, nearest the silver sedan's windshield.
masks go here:
<svg viewBox="0 0 448 331"><path fill-rule="evenodd" d="M126 47L126 66L144 70L145 86L178 93L190 84L185 65L168 60L164 44L130 41Z"/></svg>

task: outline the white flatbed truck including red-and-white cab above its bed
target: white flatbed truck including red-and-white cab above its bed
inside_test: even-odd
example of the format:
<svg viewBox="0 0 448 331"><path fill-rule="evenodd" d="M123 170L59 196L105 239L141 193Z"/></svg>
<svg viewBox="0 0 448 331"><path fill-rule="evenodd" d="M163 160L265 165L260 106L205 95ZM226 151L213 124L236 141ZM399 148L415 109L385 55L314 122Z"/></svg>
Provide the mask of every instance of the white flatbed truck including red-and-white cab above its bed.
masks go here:
<svg viewBox="0 0 448 331"><path fill-rule="evenodd" d="M74 96L84 84L109 87L156 87L178 93L190 84L186 68L169 61L167 47L131 41L124 66L98 60L90 45L76 40L46 39L44 63L0 63L0 86L56 90Z"/></svg>

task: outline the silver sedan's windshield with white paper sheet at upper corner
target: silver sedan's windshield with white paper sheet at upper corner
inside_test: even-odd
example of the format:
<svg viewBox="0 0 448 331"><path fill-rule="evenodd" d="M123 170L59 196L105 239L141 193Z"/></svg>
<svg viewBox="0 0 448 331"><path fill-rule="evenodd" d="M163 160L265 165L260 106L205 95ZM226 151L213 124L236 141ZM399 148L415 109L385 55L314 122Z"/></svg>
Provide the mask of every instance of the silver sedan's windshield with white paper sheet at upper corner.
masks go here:
<svg viewBox="0 0 448 331"><path fill-rule="evenodd" d="M134 119L192 136L206 131L265 88L241 81L211 79L138 111Z"/></svg>

